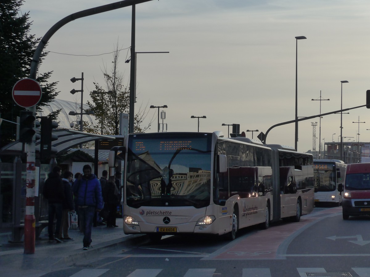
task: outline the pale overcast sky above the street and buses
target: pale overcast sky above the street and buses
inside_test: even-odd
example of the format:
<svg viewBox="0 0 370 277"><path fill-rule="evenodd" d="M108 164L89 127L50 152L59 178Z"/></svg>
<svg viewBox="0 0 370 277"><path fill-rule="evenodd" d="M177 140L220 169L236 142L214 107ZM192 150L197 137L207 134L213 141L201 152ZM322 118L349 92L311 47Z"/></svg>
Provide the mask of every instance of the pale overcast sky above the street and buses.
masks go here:
<svg viewBox="0 0 370 277"><path fill-rule="evenodd" d="M59 20L75 12L114 3L110 0L26 0L31 34L43 37ZM136 5L137 103L147 107L144 125L157 131L158 109L164 109L168 131L223 131L240 124L240 131L260 131L295 119L296 39L298 116L308 117L366 104L370 89L368 0L153 0ZM115 45L119 70L129 83L131 7L79 18L49 40L50 52L40 72L53 71L58 99L84 103L93 82L103 84L102 69L111 66ZM127 49L125 49L127 48ZM56 54L63 53L63 54ZM68 55L66 55L68 54ZM90 55L90 56L84 56ZM95 55L95 56L91 56ZM340 81L348 81L342 83ZM312 101L312 99L330 99ZM161 109L162 110L162 109ZM370 110L353 109L343 117L343 141L370 141ZM162 120L160 120L162 122ZM316 138L312 122L317 122ZM321 143L340 141L340 114L299 122L298 151L316 150ZM361 122L361 123L358 123ZM365 123L362 123L365 122ZM321 131L320 131L321 130ZM231 132L231 127L230 127ZM252 133L246 133L252 137ZM346 138L344 138L346 137ZM313 139L314 138L314 139ZM267 143L293 146L295 124L273 128Z"/></svg>

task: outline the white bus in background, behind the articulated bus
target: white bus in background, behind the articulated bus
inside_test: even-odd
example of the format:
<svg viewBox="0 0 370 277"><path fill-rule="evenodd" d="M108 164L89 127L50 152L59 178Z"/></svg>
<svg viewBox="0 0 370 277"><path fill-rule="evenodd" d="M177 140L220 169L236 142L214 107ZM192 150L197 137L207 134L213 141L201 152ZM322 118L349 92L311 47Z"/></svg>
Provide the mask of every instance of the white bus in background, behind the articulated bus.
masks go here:
<svg viewBox="0 0 370 277"><path fill-rule="evenodd" d="M347 165L340 160L313 160L315 203L342 204L339 184L344 183Z"/></svg>

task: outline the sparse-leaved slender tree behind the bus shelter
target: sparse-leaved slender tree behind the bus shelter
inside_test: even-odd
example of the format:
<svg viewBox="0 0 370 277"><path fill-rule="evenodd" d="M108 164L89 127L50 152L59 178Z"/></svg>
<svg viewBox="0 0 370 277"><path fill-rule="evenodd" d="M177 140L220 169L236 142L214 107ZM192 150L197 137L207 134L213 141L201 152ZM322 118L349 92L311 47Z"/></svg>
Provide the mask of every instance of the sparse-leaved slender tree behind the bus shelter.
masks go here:
<svg viewBox="0 0 370 277"><path fill-rule="evenodd" d="M108 72L107 66L104 66L102 69L104 86L94 82L97 93L90 92L92 103L87 102L87 105L89 105L90 110L94 111L98 120L98 126L95 126L95 133L102 132L103 134L118 135L120 113L129 113L130 89L127 85L124 85L124 76L118 69L120 50L117 44L113 52L111 72ZM142 126L142 122L148 112L146 107L143 109L141 105L138 112L135 113L135 132L144 132L150 127L153 118L148 126Z"/></svg>

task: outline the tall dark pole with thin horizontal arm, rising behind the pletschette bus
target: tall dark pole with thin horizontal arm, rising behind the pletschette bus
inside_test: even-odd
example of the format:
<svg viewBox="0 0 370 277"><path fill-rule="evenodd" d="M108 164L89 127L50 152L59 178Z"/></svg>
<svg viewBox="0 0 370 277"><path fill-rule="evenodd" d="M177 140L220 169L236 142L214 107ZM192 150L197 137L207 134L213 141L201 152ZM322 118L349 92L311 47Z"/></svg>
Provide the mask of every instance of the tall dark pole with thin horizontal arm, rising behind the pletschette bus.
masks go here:
<svg viewBox="0 0 370 277"><path fill-rule="evenodd" d="M125 61L130 62L130 103L128 115L128 133L134 133L134 117L136 102L136 55L145 53L169 53L169 52L135 52L135 4L132 5L132 24L131 24L131 58ZM159 131L158 131L159 132Z"/></svg>

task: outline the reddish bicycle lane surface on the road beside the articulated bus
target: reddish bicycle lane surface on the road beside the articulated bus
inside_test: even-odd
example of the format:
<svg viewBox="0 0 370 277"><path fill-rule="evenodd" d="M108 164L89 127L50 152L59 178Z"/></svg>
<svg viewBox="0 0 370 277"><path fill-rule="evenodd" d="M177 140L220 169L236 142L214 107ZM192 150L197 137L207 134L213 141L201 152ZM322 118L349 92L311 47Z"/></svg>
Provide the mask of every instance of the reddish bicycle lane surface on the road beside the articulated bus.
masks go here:
<svg viewBox="0 0 370 277"><path fill-rule="evenodd" d="M286 223L272 226L267 230L259 230L244 239L237 239L236 242L228 244L220 251L202 260L286 259L287 246L306 229L305 227L308 228L310 223L314 224L316 221L322 220L326 216L333 216L332 214L335 215L336 213L335 209L332 212L319 212L303 216L300 222ZM283 248L279 249L281 245L283 245Z"/></svg>

